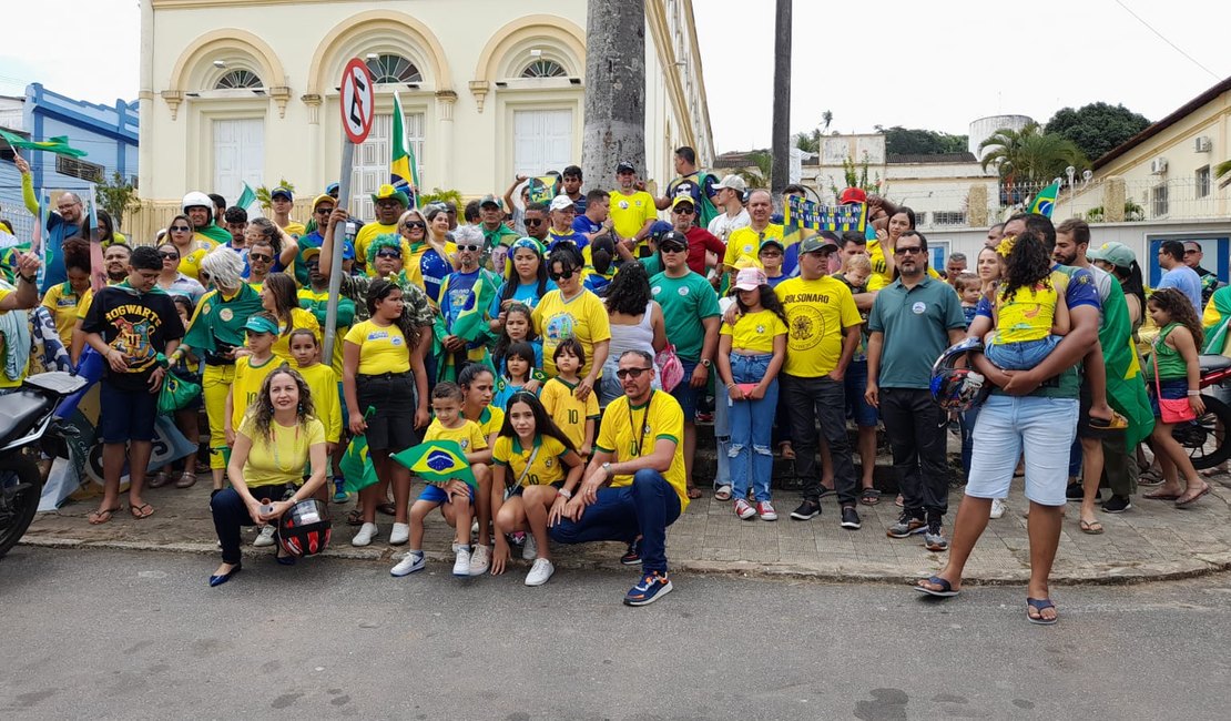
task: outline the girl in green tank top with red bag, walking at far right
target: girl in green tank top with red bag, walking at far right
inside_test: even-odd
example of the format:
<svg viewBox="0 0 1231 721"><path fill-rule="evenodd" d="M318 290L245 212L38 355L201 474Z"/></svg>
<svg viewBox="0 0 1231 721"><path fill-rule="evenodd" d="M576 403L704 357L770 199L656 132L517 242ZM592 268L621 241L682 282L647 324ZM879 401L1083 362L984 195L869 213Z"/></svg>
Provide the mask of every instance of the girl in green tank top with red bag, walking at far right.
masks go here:
<svg viewBox="0 0 1231 721"><path fill-rule="evenodd" d="M1153 383L1146 381L1150 401L1153 406L1153 433L1150 434L1152 447L1162 465L1163 484L1146 498L1174 501L1177 508L1184 508L1210 492L1210 486L1197 474L1188 453L1176 440L1171 431L1176 421L1165 420L1160 406L1162 400L1182 400L1188 397L1190 417L1205 413L1201 401L1201 367L1198 353L1201 347L1201 321L1197 310L1183 293L1174 288L1155 290L1147 304L1150 317L1161 329L1153 341L1153 351L1146 360L1146 378L1153 375ZM1178 474L1183 474L1183 485Z"/></svg>

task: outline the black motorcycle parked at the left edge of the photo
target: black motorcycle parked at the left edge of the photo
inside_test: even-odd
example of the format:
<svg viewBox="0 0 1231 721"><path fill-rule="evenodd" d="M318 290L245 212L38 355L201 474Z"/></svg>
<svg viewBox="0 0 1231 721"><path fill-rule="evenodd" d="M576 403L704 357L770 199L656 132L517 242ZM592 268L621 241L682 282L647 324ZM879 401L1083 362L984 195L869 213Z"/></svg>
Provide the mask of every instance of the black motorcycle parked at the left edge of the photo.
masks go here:
<svg viewBox="0 0 1231 721"><path fill-rule="evenodd" d="M31 375L21 390L0 396L0 557L17 544L38 511L43 492L39 450L63 454L64 431L55 410L86 385L81 376L55 370Z"/></svg>

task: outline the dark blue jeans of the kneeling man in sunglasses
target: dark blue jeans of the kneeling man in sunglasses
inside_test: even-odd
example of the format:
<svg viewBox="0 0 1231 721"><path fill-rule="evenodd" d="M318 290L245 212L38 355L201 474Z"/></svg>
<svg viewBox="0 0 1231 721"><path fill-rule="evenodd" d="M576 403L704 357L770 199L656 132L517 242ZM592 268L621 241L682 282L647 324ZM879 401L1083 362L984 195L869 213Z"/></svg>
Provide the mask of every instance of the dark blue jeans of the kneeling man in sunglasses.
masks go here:
<svg viewBox="0 0 1231 721"><path fill-rule="evenodd" d="M598 488L598 500L576 522L548 529L558 544L599 540L633 543L641 536L641 570L667 572L667 527L680 518L680 496L662 474L641 469L633 485Z"/></svg>

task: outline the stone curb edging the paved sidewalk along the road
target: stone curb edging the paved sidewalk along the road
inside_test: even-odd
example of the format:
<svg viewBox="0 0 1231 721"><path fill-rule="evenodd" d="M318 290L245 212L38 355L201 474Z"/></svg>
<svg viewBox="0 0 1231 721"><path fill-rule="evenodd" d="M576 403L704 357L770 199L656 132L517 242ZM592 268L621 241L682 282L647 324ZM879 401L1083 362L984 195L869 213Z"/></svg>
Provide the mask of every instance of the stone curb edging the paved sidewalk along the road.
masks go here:
<svg viewBox="0 0 1231 721"><path fill-rule="evenodd" d="M102 540L87 541L73 538L27 536L21 545L43 549L100 549L118 551L162 551L178 554L211 555L217 554L214 544L206 543L167 543ZM401 551L396 548L353 548L339 545L321 554L327 559L346 559L352 561L390 562ZM452 555L426 551L432 562L449 562ZM939 556L938 556L939 557ZM556 568L576 571L618 571L627 570L614 560L595 560L586 557L564 557L553 560ZM508 568L526 565L521 559L513 559ZM901 566L860 562L859 567L842 564L753 564L751 561L700 561L687 560L672 564L673 571L700 573L708 576L732 576L763 580L805 581L814 583L884 583L911 586L920 578L936 572L937 564L921 565L917 572L908 572ZM1183 562L1142 564L1134 566L1107 566L1082 571L1060 571L1051 575L1051 581L1066 586L1129 586L1160 581L1181 581L1213 573L1231 571L1231 552L1197 554ZM971 573L963 578L969 586L1020 586L1029 580L1027 570L1008 570L998 573Z"/></svg>

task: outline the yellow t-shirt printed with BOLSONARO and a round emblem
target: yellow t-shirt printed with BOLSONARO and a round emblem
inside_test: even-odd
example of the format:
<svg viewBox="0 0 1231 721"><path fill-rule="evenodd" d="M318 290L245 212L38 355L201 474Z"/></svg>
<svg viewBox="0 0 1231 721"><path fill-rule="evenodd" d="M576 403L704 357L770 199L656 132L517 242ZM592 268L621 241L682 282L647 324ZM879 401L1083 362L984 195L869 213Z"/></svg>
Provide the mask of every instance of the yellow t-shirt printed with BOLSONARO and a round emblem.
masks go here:
<svg viewBox="0 0 1231 721"><path fill-rule="evenodd" d="M846 283L830 276L790 278L774 289L787 308L787 360L783 373L820 378L837 368L843 329L863 322Z"/></svg>

